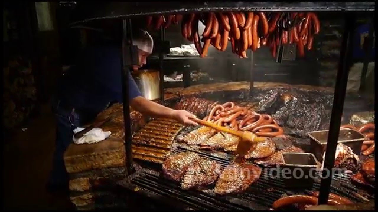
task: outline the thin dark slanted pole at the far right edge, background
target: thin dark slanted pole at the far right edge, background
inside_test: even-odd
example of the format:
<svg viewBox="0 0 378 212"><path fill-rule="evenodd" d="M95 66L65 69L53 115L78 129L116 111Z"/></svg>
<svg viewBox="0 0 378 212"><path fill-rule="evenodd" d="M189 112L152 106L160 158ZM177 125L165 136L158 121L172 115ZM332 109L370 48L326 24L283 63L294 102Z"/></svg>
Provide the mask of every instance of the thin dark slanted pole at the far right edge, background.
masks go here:
<svg viewBox="0 0 378 212"><path fill-rule="evenodd" d="M369 34L367 35L367 38L364 40L363 48L365 52L364 57L364 65L362 67L362 73L361 73L361 80L359 85L359 91L365 91L366 86L366 74L367 74L367 67L369 66L369 62L371 60L371 50L373 49L372 41L373 41L373 31L374 31L374 18L373 20L369 20Z"/></svg>

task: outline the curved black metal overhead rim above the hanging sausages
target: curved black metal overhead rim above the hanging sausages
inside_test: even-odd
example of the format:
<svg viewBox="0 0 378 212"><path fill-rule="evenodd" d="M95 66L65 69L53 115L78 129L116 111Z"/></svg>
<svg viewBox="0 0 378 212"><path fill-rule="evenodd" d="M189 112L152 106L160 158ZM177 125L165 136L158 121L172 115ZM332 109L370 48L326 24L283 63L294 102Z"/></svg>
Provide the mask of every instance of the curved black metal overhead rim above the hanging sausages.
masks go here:
<svg viewBox="0 0 378 212"><path fill-rule="evenodd" d="M79 2L71 25L99 19L215 11L374 11L375 2Z"/></svg>

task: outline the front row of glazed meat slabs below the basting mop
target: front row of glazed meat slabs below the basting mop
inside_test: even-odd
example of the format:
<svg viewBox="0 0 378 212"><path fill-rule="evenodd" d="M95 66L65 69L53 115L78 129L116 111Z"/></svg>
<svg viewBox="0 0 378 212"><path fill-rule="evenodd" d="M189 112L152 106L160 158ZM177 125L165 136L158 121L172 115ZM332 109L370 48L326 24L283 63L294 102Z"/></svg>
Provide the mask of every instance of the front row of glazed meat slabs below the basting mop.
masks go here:
<svg viewBox="0 0 378 212"><path fill-rule="evenodd" d="M220 195L243 192L260 174L258 166L245 162L233 162L222 172L219 164L195 152L172 155L163 163L163 176L181 182L182 189L201 189L217 181L214 192Z"/></svg>

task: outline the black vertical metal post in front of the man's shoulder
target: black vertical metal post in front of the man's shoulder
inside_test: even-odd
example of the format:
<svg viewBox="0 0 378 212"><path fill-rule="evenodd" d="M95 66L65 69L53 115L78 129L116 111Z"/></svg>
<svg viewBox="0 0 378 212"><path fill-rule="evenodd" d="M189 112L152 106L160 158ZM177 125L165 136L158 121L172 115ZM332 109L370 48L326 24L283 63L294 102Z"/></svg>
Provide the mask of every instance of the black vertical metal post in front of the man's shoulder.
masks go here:
<svg viewBox="0 0 378 212"><path fill-rule="evenodd" d="M130 48L127 49L127 32L130 37ZM126 19L122 20L122 59L121 59L121 75L122 75L122 98L123 98L123 118L124 118L124 128L125 128L125 152L126 152L126 168L127 174L130 175L133 172L133 154L132 154L132 137L131 137L131 122L130 122L130 107L129 107L129 77L128 71L132 70L132 64L129 64L127 67L127 61L125 60L126 53L129 53L130 57L132 58L133 51L133 37L132 37L132 26L131 26L131 19L127 22ZM128 52L127 52L128 51ZM133 58L131 59L132 63ZM129 68L129 70L128 70Z"/></svg>

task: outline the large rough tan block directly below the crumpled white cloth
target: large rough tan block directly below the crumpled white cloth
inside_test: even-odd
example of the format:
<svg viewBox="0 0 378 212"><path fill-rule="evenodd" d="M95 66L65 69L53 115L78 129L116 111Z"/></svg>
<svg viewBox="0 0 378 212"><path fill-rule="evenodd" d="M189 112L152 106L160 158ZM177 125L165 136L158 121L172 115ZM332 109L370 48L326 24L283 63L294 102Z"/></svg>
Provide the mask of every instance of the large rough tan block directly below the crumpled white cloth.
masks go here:
<svg viewBox="0 0 378 212"><path fill-rule="evenodd" d="M125 158L123 140L116 137L109 137L94 144L71 143L64 153L68 173L125 166Z"/></svg>

